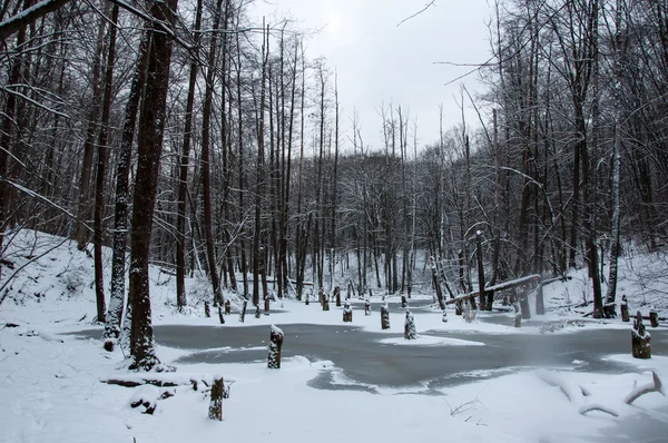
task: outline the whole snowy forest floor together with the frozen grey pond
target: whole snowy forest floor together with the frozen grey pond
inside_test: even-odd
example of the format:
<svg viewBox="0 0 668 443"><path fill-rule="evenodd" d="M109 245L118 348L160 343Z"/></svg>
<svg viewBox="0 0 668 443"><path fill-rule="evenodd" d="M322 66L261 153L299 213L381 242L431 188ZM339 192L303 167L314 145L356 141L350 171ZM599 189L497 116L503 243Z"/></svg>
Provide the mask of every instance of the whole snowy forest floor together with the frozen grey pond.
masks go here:
<svg viewBox="0 0 668 443"><path fill-rule="evenodd" d="M191 308L179 314L174 277L155 267L151 303L157 355L177 371L151 377L178 386L122 387L101 383L139 376L126 370L122 350L107 353L99 337L95 337L95 329L101 336L101 327L92 324L92 259L69 242L56 247L60 242L22 232L13 239L16 247L8 255L18 269L30 260L27 257L40 257L55 247L17 274L0 305L1 442L668 441L666 396L652 392L631 405L625 403L633 388L652 381L652 371L668 381L668 328L665 324L648 327L650 333L656 332L651 342L654 356L633 360L630 324L583 317L591 305L578 307L591 299L584 270L573 272L568 282L547 286L547 314L534 315L520 329L512 327L512 314L503 312L480 313L474 322L466 323L449 311L444 323L441 312L431 304L432 294L426 289L414 294L409 303L419 339L409 342L402 337L404 311L399 308L397 296L387 297L393 307L389 331L381 331L380 294L372 301L371 316L364 316L363 301L354 299L352 324L343 324L342 308L334 303L332 311L323 312L317 303L305 306L292 299L273 302L272 314L259 318L249 308L240 323L235 299L235 314L219 325L217 315L204 316L206 279L187 282ZM2 282L12 273L3 268ZM429 276L423 277L429 280ZM631 313L639 309L647 314L656 306L659 316L666 316L667 279L666 255L626 256L620 262L618 294L627 295ZM278 371L268 370L266 360L256 357L266 354L271 324L286 332ZM194 333L190 337L174 333L168 339L166 331L177 327L193 328ZM314 335L313 328L318 327L327 332L326 339L332 344L325 341L318 345L312 339L307 345L320 346L317 351L304 347L299 354L297 336ZM89 338L71 335L85 329L94 329ZM611 329L615 332L608 337L605 332ZM263 331L266 338L262 338ZM620 341L623 331L628 331L628 338ZM348 342L336 338L337 332L346 334ZM584 364L591 362L583 362L584 357L578 358L573 353L572 360L557 363L503 363L499 367L466 371L459 383L434 383L439 377L432 376L433 371L407 384L401 378L392 383L364 378L365 373L382 374L389 370L401 374L402 365L442 365L445 373L451 370L439 363L443 355L466 358L468 350L473 356L485 347L502 348L503 337L508 337L509 345L514 341L517 350L523 347L518 343L524 342L513 337L559 336L559 341L542 342L546 345L541 352L549 354L560 346L557 343L571 344L577 351L588 333L606 343L600 353L590 356L591 362L613 363L605 371L600 364ZM291 341L295 343L292 350ZM617 342L621 343L616 345ZM383 347L377 354L381 357L355 366L355 353L362 353L365 346L370 354ZM346 352L351 355L342 360L341 354ZM238 357L245 353L248 355ZM205 363L206 357L193 358L202 354L234 358L210 358L209 363ZM210 383L217 374L230 386L230 396L224 401L223 422L207 419L208 392L206 384L199 383ZM198 381L197 391L190 380ZM174 396L158 400L165 391ZM139 397L157 405L153 415L143 414L144 406L130 406ZM599 406L608 413L584 412L588 406Z"/></svg>

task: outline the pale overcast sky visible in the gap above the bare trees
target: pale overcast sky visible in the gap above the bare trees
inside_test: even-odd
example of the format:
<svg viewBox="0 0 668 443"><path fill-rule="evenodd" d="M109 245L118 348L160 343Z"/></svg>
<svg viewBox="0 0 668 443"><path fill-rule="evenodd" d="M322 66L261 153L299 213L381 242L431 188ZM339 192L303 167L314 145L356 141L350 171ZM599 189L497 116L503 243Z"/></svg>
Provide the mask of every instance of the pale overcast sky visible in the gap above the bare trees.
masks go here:
<svg viewBox="0 0 668 443"><path fill-rule="evenodd" d="M439 105L443 105L446 129L461 121L455 102L460 85L471 91L480 88L477 73L445 86L471 68L434 62L481 63L490 57L487 23L492 12L488 1L435 0L397 27L429 1L258 0L256 8L267 17L275 10L289 13L305 29L323 28L307 41L307 56L326 57L337 71L342 129L350 132L356 108L364 144L377 149L382 146L379 110L383 102L410 108L424 145L438 140ZM345 136L342 141L350 145Z"/></svg>

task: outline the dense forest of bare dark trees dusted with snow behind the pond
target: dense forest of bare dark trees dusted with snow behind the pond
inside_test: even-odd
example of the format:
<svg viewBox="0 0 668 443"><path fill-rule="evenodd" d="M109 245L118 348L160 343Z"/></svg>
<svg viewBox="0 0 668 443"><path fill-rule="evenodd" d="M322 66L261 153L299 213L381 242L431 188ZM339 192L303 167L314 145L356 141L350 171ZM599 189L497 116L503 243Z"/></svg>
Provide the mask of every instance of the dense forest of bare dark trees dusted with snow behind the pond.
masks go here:
<svg viewBox="0 0 668 443"><path fill-rule="evenodd" d="M587 266L595 316L612 315L617 257L667 240L668 2L492 8L483 90L462 89L477 120L421 144L410 104L385 104L372 149L341 118L335 67L247 1L3 0L3 266L21 228L76 239L108 336L129 293L145 367L149 263L181 308L197 273L216 306L410 296L430 265L449 296L481 285L477 263L487 286Z"/></svg>

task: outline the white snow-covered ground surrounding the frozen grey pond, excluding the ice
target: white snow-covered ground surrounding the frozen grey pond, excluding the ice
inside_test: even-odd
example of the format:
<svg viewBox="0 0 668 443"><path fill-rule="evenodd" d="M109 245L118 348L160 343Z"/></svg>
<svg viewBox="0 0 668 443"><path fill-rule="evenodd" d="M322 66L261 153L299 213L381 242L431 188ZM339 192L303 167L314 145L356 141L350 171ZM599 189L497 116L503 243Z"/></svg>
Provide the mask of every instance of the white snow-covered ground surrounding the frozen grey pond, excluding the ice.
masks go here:
<svg viewBox="0 0 668 443"><path fill-rule="evenodd" d="M9 258L18 268L58 242L43 234L21 233ZM620 266L619 294L629 298L631 312L650 305L666 314L668 274L665 256L625 258ZM2 269L2 282L12 270ZM549 333L588 328L630 328L620 321L582 321L576 305L591 299L586 273L546 288L548 315L522 327L523 334L548 333L544 324L556 325ZM652 381L651 371L668 381L668 357L636 361L630 355L609 355L615 362L636 367L626 374L595 374L576 371L525 371L477 383L441 388L440 395L413 393L411 388L383 388L369 393L325 391L308 382L322 371L332 371L328 361L303 356L284 358L282 368L268 370L266 363L179 364L173 374L156 374L183 383L176 387L121 387L101 383L109 378L137 377L122 364L121 351L105 352L97 339L78 339L62 333L90 328L96 307L92 288L92 260L69 242L27 266L11 283L0 305L0 441L2 442L615 442L638 441L662 435L668 441L668 398L650 393L627 405L623 400L636 385ZM216 325L204 317L206 280L188 280L187 314L175 309L174 277L151 269L151 296L156 324ZM7 289L7 288L4 288ZM0 291L0 297L4 294ZM381 333L377 304L373 315L364 316L361 301L354 301L353 325ZM431 298L431 294L416 298ZM396 302L397 298L390 298ZM642 304L645 303L645 305ZM342 325L341 308L322 312L316 303L305 306L294 301L275 302L279 312L256 319L248 309L246 322L229 318L222 327L246 327L272 323L313 323ZM588 311L581 308L582 313ZM391 346L425 346L438 352L443 346L480 346L475 332L517 334L518 329L482 321L465 323L449 312L428 308L412 311L419 339L406 344L395 338L403 332L403 313L391 314L394 334L381 338ZM484 314L481 314L484 315ZM508 314L510 316L510 314ZM576 322L577 321L577 322ZM511 324L510 322L508 323ZM664 326L660 326L661 328ZM471 341L430 335L435 331L464 331ZM651 332L651 329L650 329ZM100 329L101 335L101 329ZM630 335L630 334L629 334ZM258 344L261 345L261 344ZM654 346L666 346L665 342ZM402 346L396 346L400 352ZM158 357L171 363L184 350L158 347ZM230 397L224 401L223 422L207 419L208 393L203 383L193 390L190 378L210 382L219 374L232 383ZM548 381L558 381L561 387ZM569 400L562 388L576 387L587 395ZM157 400L165 391L175 394ZM568 390L567 390L568 391ZM157 402L153 415L143 406L130 407L137 398ZM601 405L618 416L580 408ZM654 441L661 441L654 440Z"/></svg>

